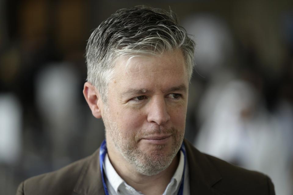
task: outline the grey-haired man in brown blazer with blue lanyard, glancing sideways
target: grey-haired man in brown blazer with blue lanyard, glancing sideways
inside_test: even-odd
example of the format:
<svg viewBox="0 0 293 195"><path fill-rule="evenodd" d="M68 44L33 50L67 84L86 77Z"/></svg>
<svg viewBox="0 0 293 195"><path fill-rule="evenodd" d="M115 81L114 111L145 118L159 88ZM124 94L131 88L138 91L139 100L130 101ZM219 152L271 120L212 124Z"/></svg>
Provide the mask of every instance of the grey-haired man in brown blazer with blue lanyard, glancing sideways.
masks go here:
<svg viewBox="0 0 293 195"><path fill-rule="evenodd" d="M183 139L194 46L172 12L138 6L103 21L88 41L83 93L106 141L17 194L274 194L267 176Z"/></svg>

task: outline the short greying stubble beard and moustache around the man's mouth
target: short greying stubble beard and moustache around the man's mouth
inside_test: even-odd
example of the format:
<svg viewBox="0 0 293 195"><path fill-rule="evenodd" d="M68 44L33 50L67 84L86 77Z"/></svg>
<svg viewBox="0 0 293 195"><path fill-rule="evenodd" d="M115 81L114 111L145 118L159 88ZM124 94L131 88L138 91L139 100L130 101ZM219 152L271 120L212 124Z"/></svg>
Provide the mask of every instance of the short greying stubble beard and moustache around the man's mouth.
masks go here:
<svg viewBox="0 0 293 195"><path fill-rule="evenodd" d="M136 168L137 172L146 176L156 175L168 168L172 163L183 142L184 129L182 131L178 131L175 128L166 129L163 127L149 130L141 129L135 135L126 136L119 130L117 123L112 120L107 107L104 108L104 113L103 121L106 132L110 136L107 139L110 138L113 141L115 148L126 161ZM139 149L139 138L155 133L172 134L172 147L168 153L162 151L165 145L156 145L157 148L148 153Z"/></svg>

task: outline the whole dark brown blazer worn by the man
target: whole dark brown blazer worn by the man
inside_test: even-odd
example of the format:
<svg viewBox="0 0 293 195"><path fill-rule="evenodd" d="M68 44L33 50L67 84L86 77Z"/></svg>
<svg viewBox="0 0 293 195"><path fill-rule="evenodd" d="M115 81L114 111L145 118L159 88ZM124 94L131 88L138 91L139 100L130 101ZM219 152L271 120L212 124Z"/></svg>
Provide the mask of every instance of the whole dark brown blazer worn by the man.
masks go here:
<svg viewBox="0 0 293 195"><path fill-rule="evenodd" d="M268 176L231 165L203 154L184 140L189 165L190 194L274 195ZM91 156L60 170L32 177L20 183L16 195L105 194L99 169L99 149Z"/></svg>

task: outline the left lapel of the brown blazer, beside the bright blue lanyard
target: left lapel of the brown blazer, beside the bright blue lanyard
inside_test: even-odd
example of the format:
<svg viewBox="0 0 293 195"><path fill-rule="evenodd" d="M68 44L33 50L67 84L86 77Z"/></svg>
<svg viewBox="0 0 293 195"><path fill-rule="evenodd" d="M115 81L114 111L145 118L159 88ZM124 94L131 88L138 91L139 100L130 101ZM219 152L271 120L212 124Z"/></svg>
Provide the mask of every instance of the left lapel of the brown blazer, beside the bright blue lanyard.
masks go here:
<svg viewBox="0 0 293 195"><path fill-rule="evenodd" d="M96 150L82 168L73 195L105 194L100 172L99 151L100 149Z"/></svg>

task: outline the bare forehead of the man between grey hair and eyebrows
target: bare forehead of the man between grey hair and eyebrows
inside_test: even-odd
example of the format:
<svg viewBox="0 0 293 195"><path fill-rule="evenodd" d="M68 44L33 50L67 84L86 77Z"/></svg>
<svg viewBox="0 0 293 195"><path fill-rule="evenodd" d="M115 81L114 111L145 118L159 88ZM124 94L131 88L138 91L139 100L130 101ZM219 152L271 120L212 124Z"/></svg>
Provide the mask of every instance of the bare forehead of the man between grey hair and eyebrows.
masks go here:
<svg viewBox="0 0 293 195"><path fill-rule="evenodd" d="M188 73L181 51L159 56L121 57L117 60L114 79L109 88L161 90L176 86L188 87Z"/></svg>

